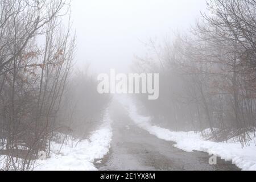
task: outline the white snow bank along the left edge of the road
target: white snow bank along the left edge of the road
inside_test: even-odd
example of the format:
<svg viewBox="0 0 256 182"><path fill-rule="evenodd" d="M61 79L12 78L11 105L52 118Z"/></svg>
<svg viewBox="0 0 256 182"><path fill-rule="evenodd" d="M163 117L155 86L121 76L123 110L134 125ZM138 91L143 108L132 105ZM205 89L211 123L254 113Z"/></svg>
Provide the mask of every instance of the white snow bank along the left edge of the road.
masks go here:
<svg viewBox="0 0 256 182"><path fill-rule="evenodd" d="M70 144L62 146L52 143L51 158L47 160L37 160L34 170L36 171L67 171L67 170L97 170L93 162L95 159L101 159L109 152L110 142L112 140L112 127L109 114L105 114L104 123L97 131L94 131L89 139L81 142L72 141ZM71 143L68 142L68 143Z"/></svg>

